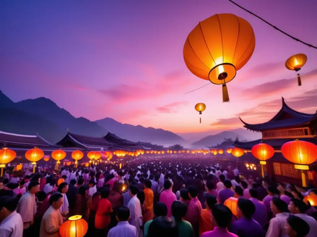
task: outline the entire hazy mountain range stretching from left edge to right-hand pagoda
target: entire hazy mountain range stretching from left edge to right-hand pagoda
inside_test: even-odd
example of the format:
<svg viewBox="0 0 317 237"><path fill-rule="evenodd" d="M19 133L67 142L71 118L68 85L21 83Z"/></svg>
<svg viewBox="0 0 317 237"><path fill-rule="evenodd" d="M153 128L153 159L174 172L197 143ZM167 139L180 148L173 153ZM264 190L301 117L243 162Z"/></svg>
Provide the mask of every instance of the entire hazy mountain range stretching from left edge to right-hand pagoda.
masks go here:
<svg viewBox="0 0 317 237"><path fill-rule="evenodd" d="M151 142L165 146L178 143L186 148L190 148L193 142L197 146L212 146L221 143L224 138L235 139L239 136L240 140L254 140L259 136L245 129L223 131L219 134L215 134L215 131L175 134L163 129L122 124L111 118L90 121L83 117L75 118L47 98L40 97L15 103L0 91L1 131L26 135L38 133L49 142L56 143L67 134L67 129L72 133L91 137L101 137L110 131L134 142Z"/></svg>

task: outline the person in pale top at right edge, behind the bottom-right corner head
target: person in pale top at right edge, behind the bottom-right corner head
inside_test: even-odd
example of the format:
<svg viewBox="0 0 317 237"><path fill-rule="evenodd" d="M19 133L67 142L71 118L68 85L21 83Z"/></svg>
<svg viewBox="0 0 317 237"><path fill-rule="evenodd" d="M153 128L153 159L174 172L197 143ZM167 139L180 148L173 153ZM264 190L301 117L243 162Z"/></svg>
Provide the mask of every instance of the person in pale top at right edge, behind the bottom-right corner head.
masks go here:
<svg viewBox="0 0 317 237"><path fill-rule="evenodd" d="M291 199L288 205L288 209L291 214L300 217L309 225L309 233L306 235L307 237L317 237L317 221L305 214L305 212L309 209L309 207L300 199Z"/></svg>

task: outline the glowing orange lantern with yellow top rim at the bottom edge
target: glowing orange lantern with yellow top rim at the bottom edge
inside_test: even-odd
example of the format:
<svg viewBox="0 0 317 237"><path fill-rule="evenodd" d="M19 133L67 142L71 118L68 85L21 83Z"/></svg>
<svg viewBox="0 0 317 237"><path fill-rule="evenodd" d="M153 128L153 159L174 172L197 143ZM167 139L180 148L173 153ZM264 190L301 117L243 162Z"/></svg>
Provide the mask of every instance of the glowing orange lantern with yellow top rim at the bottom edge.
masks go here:
<svg viewBox="0 0 317 237"><path fill-rule="evenodd" d="M61 237L83 237L87 233L88 223L81 216L71 216L60 229Z"/></svg>

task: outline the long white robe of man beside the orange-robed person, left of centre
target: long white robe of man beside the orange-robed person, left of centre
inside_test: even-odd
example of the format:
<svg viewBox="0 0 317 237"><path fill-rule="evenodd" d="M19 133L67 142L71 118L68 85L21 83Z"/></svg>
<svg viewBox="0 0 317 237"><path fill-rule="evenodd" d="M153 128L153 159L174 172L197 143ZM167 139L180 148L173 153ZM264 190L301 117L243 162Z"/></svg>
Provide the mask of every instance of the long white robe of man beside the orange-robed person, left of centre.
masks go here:
<svg viewBox="0 0 317 237"><path fill-rule="evenodd" d="M130 210L130 225L133 225L137 228L138 235L142 236L140 226L143 225L142 223L142 210L141 210L141 204L140 200L137 197L137 195L133 196L129 203L128 203L128 208Z"/></svg>

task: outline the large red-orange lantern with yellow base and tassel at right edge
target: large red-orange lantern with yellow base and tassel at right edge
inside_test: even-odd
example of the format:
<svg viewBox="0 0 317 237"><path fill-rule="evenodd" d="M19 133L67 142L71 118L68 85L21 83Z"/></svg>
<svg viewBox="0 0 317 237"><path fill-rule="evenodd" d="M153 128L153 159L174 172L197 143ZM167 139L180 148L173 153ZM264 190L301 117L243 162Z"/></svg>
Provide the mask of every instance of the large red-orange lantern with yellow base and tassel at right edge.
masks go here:
<svg viewBox="0 0 317 237"><path fill-rule="evenodd" d="M282 155L294 163L294 168L301 170L302 186L307 187L306 175L303 170L309 170L308 165L317 159L317 146L314 143L300 141L287 142L281 147Z"/></svg>

